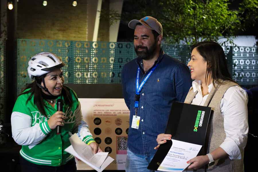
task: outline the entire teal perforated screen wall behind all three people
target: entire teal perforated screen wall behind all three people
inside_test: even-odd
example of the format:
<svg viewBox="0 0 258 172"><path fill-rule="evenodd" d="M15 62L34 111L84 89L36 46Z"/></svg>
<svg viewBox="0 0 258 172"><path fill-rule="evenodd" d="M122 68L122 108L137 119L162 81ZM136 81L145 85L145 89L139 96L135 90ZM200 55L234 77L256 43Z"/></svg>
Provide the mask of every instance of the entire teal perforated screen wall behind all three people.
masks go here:
<svg viewBox="0 0 258 172"><path fill-rule="evenodd" d="M170 56L187 64L190 46L163 44ZM257 47L223 47L233 79L240 85L258 85ZM57 54L67 64L65 83L120 83L125 63L136 58L132 42L83 42L61 40L17 40L17 93L30 83L28 60L39 52Z"/></svg>

